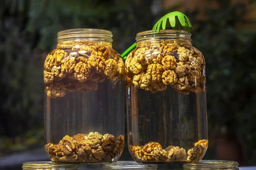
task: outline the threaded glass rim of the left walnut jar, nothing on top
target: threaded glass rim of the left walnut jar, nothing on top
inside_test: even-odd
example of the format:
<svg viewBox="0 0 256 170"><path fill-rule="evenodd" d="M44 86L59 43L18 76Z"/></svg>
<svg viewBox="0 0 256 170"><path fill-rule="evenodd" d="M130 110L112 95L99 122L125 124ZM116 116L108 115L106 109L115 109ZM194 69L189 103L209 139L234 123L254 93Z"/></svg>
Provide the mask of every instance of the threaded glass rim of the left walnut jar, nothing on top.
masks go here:
<svg viewBox="0 0 256 170"><path fill-rule="evenodd" d="M112 32L108 30L94 28L76 28L59 31L57 42L62 42L65 40L76 41L81 39L86 39L88 41L112 42L112 37Z"/></svg>

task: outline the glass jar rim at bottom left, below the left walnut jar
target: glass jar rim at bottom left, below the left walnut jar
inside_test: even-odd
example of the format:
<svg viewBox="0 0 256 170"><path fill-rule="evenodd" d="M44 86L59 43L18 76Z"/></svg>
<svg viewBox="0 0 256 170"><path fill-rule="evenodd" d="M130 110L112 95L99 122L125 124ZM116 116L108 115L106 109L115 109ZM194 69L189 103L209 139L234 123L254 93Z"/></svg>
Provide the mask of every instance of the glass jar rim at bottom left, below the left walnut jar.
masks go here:
<svg viewBox="0 0 256 170"><path fill-rule="evenodd" d="M77 164L61 164L52 161L29 161L23 162L22 168L76 168Z"/></svg>

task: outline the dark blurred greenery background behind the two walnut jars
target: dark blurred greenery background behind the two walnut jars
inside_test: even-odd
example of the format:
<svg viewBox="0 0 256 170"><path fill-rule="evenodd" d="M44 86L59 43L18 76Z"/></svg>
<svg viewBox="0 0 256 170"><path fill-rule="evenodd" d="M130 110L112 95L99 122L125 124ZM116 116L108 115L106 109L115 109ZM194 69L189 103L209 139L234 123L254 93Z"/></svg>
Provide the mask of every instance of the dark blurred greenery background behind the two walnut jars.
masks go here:
<svg viewBox="0 0 256 170"><path fill-rule="evenodd" d="M101 28L122 53L171 11L185 13L207 68L209 149L204 159L256 165L255 0L1 0L0 169L49 160L43 65L57 32ZM132 160L127 144L120 160ZM171 166L159 166L165 169ZM84 165L84 168L93 166Z"/></svg>

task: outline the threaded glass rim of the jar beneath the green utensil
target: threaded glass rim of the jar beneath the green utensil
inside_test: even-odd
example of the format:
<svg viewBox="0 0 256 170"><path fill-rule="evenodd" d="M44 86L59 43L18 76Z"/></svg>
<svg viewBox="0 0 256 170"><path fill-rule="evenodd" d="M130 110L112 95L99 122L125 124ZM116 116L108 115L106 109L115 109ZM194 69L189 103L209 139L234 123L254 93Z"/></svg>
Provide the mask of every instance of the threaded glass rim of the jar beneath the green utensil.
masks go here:
<svg viewBox="0 0 256 170"><path fill-rule="evenodd" d="M136 42L145 41L145 40L156 40L156 39L183 39L191 41L191 35L187 31L183 30L160 30L157 33L157 30L142 31L136 35Z"/></svg>

